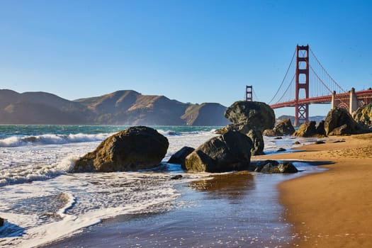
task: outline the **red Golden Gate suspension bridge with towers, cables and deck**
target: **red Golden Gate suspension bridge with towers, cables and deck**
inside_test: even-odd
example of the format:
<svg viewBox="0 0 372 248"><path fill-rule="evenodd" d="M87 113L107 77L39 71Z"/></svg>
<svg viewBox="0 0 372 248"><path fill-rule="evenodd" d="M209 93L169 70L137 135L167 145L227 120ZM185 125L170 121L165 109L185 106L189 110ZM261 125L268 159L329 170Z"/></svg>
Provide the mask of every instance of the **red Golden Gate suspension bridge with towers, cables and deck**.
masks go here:
<svg viewBox="0 0 372 248"><path fill-rule="evenodd" d="M291 74L293 69L295 73ZM252 101L253 95L253 86L246 86L245 100ZM309 45L297 45L286 74L269 105L271 108L295 107L294 125L297 126L308 122L309 105L313 103L331 103L331 108L346 108L351 113L359 106L371 102L371 88L363 91L351 88L345 91L320 64Z"/></svg>

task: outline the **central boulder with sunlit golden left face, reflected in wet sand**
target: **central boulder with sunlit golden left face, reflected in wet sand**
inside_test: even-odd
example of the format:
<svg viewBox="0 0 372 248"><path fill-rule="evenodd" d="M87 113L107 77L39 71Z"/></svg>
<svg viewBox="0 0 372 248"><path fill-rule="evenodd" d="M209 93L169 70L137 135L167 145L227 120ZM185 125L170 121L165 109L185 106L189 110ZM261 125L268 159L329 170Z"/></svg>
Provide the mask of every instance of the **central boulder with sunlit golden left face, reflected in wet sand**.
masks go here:
<svg viewBox="0 0 372 248"><path fill-rule="evenodd" d="M247 135L229 130L191 152L185 159L184 167L188 171L208 172L248 169L252 147L252 140Z"/></svg>

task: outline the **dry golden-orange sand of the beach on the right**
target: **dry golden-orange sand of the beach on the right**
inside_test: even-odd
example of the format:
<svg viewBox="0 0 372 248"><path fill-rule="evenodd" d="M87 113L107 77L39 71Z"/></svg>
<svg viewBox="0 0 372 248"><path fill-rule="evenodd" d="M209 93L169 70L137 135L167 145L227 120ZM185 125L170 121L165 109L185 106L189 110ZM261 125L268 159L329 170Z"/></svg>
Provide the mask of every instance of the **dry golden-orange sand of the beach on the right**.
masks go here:
<svg viewBox="0 0 372 248"><path fill-rule="evenodd" d="M304 152L262 157L334 162L278 186L297 235L291 247L372 247L372 134L324 140L298 147Z"/></svg>

